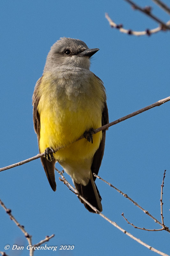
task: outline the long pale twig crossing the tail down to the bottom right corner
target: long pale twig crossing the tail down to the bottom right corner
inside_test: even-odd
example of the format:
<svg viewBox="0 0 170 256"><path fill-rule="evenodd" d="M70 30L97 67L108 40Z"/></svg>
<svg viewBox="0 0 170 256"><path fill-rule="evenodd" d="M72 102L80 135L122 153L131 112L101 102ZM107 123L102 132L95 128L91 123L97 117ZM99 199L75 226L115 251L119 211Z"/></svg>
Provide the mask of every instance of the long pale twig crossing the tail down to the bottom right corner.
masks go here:
<svg viewBox="0 0 170 256"><path fill-rule="evenodd" d="M157 249L153 248L152 246L144 243L143 241L141 241L139 238L133 236L132 234L130 234L129 232L127 232L126 230L124 230L123 228L121 228L119 225L116 224L116 222L108 219L103 213L99 212L94 206L92 206L92 204L90 204L83 196L80 196L78 194L78 191L71 186L71 184L65 179L65 177L63 176L63 172L60 172L57 168L55 168L55 170L60 174L60 176L62 177L62 179L60 179L61 181L63 181L63 183L69 188L71 188L71 191L76 194L81 200L83 200L86 204L88 204L94 212L96 212L97 214L99 214L102 218L104 218L105 220L107 220L110 224L112 224L115 228L118 228L120 231L122 231L124 234L126 234L127 236L131 237L132 239L134 239L135 241L137 241L139 244L144 245L146 248L148 248L149 250L153 251L153 252L157 252L158 254L162 255L162 256L169 256L168 254L164 253L164 252L160 252Z"/></svg>

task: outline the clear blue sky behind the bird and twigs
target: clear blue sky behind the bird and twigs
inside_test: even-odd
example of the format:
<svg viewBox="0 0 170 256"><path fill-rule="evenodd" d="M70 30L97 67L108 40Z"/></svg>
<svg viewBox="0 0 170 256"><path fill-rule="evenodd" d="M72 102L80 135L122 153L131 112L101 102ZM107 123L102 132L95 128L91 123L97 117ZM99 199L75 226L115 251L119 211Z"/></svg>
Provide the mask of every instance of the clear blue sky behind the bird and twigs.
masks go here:
<svg viewBox="0 0 170 256"><path fill-rule="evenodd" d="M168 0L164 1L166 4ZM153 12L169 19L150 0ZM42 75L46 56L60 37L83 40L99 48L91 71L106 87L110 122L170 95L169 32L135 37L111 29L105 12L124 28L145 30L158 25L121 1L3 1L1 3L1 167L38 154L32 121L32 94ZM107 131L99 175L132 197L159 221L160 185L167 169L163 213L169 223L169 105L167 102ZM62 168L56 164L57 168ZM50 255L155 255L106 220L88 212L59 181L57 191L48 184L40 159L0 173L0 198L31 234L33 244L55 234L47 245L74 245L72 251ZM71 182L70 177L65 174ZM115 190L97 180L103 214L156 249L169 253L168 233L134 229L122 218L145 228L160 228ZM27 240L0 207L0 251L6 244L27 245ZM3 232L2 232L3 231ZM28 255L8 250L10 256ZM17 254L18 253L18 254ZM19 254L20 253L20 254ZM36 251L34 255L47 255ZM49 254L48 254L49 255Z"/></svg>

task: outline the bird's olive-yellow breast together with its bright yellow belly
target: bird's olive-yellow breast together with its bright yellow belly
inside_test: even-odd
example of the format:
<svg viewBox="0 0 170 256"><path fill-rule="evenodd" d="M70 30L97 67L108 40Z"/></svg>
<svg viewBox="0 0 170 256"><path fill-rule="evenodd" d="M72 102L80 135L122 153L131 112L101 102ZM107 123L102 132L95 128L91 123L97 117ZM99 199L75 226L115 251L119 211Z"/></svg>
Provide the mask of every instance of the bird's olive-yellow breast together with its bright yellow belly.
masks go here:
<svg viewBox="0 0 170 256"><path fill-rule="evenodd" d="M47 147L64 147L55 153L56 160L77 161L78 158L92 157L99 147L102 132L93 135L93 144L86 139L71 142L85 131L101 126L105 92L99 80L92 76L87 93L75 84L78 90L75 89L74 93L73 86L64 89L63 80L51 78L48 75L44 77L39 92L40 152Z"/></svg>

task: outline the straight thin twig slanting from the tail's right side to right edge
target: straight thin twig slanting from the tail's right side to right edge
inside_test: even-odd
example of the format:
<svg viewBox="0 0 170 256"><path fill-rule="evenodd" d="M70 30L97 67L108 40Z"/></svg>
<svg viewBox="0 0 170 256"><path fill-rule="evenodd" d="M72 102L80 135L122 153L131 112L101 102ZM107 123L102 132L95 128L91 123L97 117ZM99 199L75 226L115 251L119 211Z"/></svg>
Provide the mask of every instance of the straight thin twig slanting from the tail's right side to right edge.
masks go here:
<svg viewBox="0 0 170 256"><path fill-rule="evenodd" d="M127 194L123 193L121 190L119 190L118 188L114 187L111 183L107 182L106 180L102 179L100 176L96 175L95 173L93 173L94 177L97 177L98 179L104 181L105 183L107 183L110 187L114 188L117 192L119 192L122 196L126 197L127 199L129 199L134 205L136 205L139 209L141 209L144 213L146 213L149 217L151 217L156 223L158 223L160 226L163 227L163 224L157 220L155 217L153 217L148 211L146 211L144 208L142 208L139 204L137 204L137 202L135 202L132 198L130 198ZM168 228L164 228L167 232L170 233L170 229Z"/></svg>

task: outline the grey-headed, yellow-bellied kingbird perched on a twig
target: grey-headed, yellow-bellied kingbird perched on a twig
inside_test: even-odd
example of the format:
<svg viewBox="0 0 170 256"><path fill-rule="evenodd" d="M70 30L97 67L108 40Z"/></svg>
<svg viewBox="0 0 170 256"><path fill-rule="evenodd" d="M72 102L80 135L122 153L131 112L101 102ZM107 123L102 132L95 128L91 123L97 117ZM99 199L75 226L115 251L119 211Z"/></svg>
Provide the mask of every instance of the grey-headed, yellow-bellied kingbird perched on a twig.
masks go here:
<svg viewBox="0 0 170 256"><path fill-rule="evenodd" d="M101 212L101 196L92 173L99 172L106 131L92 136L92 130L108 123L108 110L103 82L89 70L90 58L98 50L66 37L53 44L43 75L35 85L33 123L39 151L47 153L41 163L51 188L56 190L58 162L71 176L79 194ZM74 142L82 134L87 139ZM59 147L63 148L49 154L49 149L55 151Z"/></svg>

